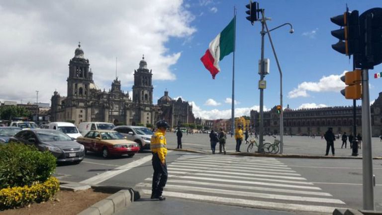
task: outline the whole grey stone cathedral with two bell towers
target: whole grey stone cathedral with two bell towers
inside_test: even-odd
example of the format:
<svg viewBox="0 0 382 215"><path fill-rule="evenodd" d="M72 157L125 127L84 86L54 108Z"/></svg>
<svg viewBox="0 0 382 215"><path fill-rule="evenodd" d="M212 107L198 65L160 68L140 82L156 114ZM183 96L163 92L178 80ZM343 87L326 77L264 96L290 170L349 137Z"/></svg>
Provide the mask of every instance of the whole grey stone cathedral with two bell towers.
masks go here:
<svg viewBox="0 0 382 215"><path fill-rule="evenodd" d="M144 59L134 71L132 98L121 90L118 77L111 83L111 89L99 89L93 80L89 60L85 58L81 45L75 50L75 56L69 62L67 78L67 96L60 96L54 91L51 105L51 121L73 120L81 122L110 122L121 125L147 125L164 119L172 127L182 123L194 123L192 106L182 99L153 104L152 70L147 68Z"/></svg>

